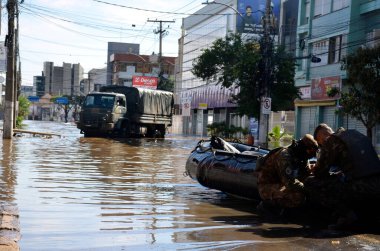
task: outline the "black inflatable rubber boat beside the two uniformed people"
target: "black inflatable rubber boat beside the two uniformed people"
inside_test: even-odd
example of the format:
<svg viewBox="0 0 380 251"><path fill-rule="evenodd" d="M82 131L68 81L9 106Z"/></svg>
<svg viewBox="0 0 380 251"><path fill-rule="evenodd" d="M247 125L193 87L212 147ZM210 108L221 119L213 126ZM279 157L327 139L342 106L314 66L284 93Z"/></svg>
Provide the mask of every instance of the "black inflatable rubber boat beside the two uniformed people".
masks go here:
<svg viewBox="0 0 380 251"><path fill-rule="evenodd" d="M268 149L212 137L198 142L187 159L186 174L205 187L260 200L256 162L268 152Z"/></svg>

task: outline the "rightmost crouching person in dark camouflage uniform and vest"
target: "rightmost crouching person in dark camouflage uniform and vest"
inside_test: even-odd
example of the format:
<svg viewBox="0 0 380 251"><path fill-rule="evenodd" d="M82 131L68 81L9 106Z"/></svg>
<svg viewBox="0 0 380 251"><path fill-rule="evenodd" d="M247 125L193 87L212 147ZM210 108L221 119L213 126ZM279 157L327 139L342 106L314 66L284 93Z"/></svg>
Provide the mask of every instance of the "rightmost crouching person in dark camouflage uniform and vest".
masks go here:
<svg viewBox="0 0 380 251"><path fill-rule="evenodd" d="M372 207L380 199L380 161L368 137L356 130L334 131L320 124L314 132L320 150L305 191L312 203L335 210L344 228L357 220L354 208ZM372 202L370 202L372 203Z"/></svg>

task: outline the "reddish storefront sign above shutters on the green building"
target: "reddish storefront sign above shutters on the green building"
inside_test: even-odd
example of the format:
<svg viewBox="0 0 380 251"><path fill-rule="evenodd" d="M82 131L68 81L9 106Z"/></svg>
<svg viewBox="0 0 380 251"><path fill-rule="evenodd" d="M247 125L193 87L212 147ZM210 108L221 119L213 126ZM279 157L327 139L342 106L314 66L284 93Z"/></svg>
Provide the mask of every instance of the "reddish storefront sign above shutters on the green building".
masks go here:
<svg viewBox="0 0 380 251"><path fill-rule="evenodd" d="M329 97L328 92L335 87L340 90L341 80L339 76L318 78L311 80L311 99L313 100L333 100L340 98L338 95Z"/></svg>

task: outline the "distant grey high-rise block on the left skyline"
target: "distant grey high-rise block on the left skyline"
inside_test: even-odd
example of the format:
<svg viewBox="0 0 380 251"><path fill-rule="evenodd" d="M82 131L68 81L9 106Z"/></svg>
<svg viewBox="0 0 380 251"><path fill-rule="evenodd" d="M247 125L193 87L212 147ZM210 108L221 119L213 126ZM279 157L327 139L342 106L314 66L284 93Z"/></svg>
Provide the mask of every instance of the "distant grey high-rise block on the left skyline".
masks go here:
<svg viewBox="0 0 380 251"><path fill-rule="evenodd" d="M80 96L80 82L83 79L83 67L80 64L63 63L54 66L53 62L44 62L42 76L44 80L44 94ZM36 79L35 79L36 80ZM34 85L37 85L35 81ZM42 95L42 90L39 90Z"/></svg>

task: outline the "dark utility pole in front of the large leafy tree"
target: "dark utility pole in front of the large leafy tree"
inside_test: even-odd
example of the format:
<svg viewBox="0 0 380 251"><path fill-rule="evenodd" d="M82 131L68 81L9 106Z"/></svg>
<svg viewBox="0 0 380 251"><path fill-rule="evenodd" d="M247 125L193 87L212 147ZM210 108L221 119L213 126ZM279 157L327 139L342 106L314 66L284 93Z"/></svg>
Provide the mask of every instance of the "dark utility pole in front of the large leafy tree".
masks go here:
<svg viewBox="0 0 380 251"><path fill-rule="evenodd" d="M263 37L262 37L262 53L264 59L264 81L261 87L260 97L260 124L259 124L259 143L268 147L268 127L269 127L269 115L271 110L271 99L269 93L269 85L271 80L271 56L273 50L272 40L270 38L271 30L271 1L266 0L264 23L263 23Z"/></svg>

